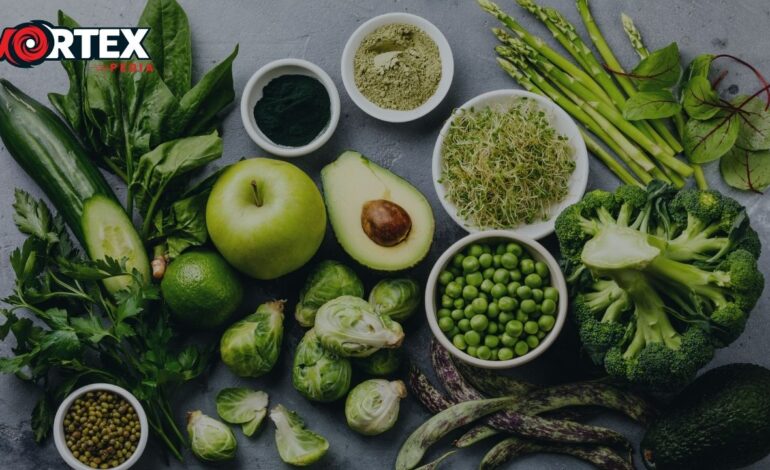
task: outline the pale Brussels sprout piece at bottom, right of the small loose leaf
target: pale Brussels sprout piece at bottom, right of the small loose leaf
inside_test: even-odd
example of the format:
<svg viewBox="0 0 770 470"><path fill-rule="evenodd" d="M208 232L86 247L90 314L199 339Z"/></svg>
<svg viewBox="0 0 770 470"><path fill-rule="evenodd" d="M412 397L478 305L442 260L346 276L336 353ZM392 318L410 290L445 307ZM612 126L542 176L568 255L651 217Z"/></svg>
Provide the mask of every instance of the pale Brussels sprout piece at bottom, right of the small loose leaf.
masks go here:
<svg viewBox="0 0 770 470"><path fill-rule="evenodd" d="M329 441L305 428L302 418L283 405L270 410L275 423L275 445L284 462L304 467L317 462L329 450Z"/></svg>

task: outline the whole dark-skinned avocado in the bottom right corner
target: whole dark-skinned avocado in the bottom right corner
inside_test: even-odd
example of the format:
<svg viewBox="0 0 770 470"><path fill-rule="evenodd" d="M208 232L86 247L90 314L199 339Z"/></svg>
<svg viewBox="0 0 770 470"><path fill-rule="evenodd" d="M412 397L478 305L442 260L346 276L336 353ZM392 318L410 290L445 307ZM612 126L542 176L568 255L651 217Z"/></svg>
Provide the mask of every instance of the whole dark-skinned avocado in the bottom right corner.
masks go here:
<svg viewBox="0 0 770 470"><path fill-rule="evenodd" d="M770 370L730 364L696 379L642 439L649 469L729 470L770 453Z"/></svg>

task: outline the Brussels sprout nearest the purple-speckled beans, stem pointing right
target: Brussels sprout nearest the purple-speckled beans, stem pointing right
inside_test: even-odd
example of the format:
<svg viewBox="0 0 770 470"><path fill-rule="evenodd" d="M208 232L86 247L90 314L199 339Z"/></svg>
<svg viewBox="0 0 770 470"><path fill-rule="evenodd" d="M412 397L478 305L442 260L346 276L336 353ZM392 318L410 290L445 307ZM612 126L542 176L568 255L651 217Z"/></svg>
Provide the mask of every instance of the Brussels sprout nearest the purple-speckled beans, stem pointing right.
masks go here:
<svg viewBox="0 0 770 470"><path fill-rule="evenodd" d="M396 424L404 382L371 379L350 391L345 401L345 418L350 429L367 436L382 434Z"/></svg>

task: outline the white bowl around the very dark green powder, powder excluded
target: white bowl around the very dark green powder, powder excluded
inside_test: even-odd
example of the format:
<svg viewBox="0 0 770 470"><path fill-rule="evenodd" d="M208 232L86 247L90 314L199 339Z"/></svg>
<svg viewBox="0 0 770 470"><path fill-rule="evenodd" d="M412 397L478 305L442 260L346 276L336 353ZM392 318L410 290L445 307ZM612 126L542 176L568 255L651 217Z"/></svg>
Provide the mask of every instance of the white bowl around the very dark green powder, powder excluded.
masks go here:
<svg viewBox="0 0 770 470"><path fill-rule="evenodd" d="M301 147L288 147L276 144L259 129L257 122L254 120L254 106L262 98L262 90L271 80L283 75L306 75L313 77L321 82L329 94L331 112L329 123L312 141ZM279 157L300 157L318 150L334 134L335 129L337 129L337 123L340 120L340 94L329 74L312 62L302 59L274 60L254 72L254 75L246 82L246 86L243 88L243 95L241 95L241 120L251 140L262 147L262 149Z"/></svg>

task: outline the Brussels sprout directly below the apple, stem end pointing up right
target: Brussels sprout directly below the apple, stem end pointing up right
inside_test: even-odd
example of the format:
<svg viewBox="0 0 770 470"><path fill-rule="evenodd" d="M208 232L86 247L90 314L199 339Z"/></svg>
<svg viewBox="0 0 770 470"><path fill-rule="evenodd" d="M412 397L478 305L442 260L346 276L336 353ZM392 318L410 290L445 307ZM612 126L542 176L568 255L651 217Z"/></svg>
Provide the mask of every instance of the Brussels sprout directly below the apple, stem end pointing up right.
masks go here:
<svg viewBox="0 0 770 470"><path fill-rule="evenodd" d="M283 304L275 300L233 324L222 335L219 351L224 362L240 377L259 377L278 360L283 339Z"/></svg>

